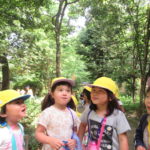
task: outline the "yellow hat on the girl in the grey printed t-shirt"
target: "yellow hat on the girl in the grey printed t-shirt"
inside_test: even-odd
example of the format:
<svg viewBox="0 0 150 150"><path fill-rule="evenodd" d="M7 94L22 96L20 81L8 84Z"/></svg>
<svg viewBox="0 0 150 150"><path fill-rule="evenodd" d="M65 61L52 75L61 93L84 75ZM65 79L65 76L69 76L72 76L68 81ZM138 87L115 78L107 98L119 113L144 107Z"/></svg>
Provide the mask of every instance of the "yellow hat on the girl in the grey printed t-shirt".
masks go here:
<svg viewBox="0 0 150 150"><path fill-rule="evenodd" d="M111 91L117 98L119 97L119 89L117 84L108 77L100 77L94 81L93 84L89 85L90 87L100 87Z"/></svg>

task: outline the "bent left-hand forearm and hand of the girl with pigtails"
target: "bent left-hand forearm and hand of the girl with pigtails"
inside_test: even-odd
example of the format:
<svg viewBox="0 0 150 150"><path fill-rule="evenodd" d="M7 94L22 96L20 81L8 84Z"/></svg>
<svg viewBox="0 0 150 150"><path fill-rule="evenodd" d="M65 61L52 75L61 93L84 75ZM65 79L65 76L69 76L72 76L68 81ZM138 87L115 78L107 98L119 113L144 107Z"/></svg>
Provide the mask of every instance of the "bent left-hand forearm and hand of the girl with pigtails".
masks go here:
<svg viewBox="0 0 150 150"><path fill-rule="evenodd" d="M45 127L42 125L38 125L35 131L35 138L43 144L49 144L53 149L59 149L64 145L62 141L59 139L47 136L45 134Z"/></svg>

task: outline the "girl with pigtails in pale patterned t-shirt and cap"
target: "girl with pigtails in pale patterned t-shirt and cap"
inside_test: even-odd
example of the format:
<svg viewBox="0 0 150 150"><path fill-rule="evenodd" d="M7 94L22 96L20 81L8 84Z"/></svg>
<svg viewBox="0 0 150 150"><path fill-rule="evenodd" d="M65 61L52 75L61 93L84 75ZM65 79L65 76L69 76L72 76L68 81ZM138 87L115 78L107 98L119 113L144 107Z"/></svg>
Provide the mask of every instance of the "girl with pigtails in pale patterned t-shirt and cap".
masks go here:
<svg viewBox="0 0 150 150"><path fill-rule="evenodd" d="M43 143L42 150L58 150L64 146L75 149L73 131L79 124L76 113L69 107L74 82L64 77L52 81L51 92L42 103L42 110L35 133L36 139Z"/></svg>

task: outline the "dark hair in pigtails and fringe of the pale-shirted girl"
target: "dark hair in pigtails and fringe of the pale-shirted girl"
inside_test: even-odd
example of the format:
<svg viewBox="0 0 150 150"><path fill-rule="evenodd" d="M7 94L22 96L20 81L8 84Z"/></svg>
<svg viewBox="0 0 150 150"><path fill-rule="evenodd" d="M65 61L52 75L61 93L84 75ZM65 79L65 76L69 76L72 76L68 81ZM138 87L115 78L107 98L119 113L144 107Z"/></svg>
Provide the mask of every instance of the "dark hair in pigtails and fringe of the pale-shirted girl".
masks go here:
<svg viewBox="0 0 150 150"><path fill-rule="evenodd" d="M66 85L66 86L70 87L70 88L71 88L71 91L72 91L72 86L71 86L71 84L69 84L68 82L62 81L62 82L58 82L58 83L54 84L54 86L52 86L52 88L51 88L51 92L53 93L53 92L55 91L56 87L59 86L59 85ZM43 101L42 101L41 110L43 111L44 109L48 108L49 106L54 105L54 103L55 103L55 100L52 98L51 94L48 93L48 94L45 96L45 98L43 99ZM76 109L75 103L74 103L74 101L72 100L72 98L71 98L71 100L68 102L67 107L70 107L70 108L72 108L72 109L74 109L74 110Z"/></svg>

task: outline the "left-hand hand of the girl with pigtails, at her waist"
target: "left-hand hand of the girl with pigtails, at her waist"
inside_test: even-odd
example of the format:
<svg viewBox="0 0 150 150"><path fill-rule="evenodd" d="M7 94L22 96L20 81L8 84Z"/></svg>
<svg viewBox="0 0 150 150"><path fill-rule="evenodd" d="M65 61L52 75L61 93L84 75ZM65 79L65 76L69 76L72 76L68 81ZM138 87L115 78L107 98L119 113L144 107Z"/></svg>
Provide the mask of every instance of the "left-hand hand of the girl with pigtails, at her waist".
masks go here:
<svg viewBox="0 0 150 150"><path fill-rule="evenodd" d="M51 137L49 145L52 147L52 149L59 150L62 146L64 146L64 143L59 139Z"/></svg>

